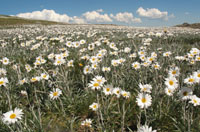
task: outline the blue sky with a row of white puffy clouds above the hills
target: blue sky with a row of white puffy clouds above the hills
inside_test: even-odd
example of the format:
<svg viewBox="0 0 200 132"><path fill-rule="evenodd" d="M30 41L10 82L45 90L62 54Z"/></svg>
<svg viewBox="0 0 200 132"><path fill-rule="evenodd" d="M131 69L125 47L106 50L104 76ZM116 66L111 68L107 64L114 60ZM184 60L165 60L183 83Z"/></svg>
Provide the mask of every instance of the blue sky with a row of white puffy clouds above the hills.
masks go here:
<svg viewBox="0 0 200 132"><path fill-rule="evenodd" d="M68 23L173 26L200 22L200 0L2 0L0 14Z"/></svg>

